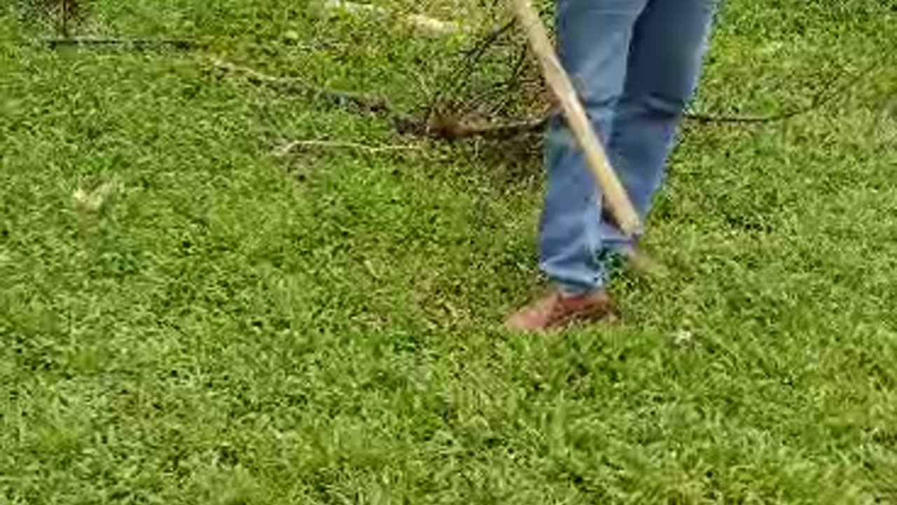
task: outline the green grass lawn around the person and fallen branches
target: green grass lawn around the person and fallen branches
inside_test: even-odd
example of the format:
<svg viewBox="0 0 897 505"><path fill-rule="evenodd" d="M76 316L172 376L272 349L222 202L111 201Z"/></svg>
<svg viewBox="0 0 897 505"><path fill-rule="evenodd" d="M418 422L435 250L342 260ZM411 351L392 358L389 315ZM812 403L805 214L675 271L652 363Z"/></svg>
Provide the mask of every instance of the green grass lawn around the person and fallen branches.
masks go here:
<svg viewBox="0 0 897 505"><path fill-rule="evenodd" d="M727 5L699 111L879 63L794 120L686 125L669 274L547 338L500 329L539 288L537 157L205 60L410 110L469 40L109 0L84 31L210 45L51 51L0 6L0 503L897 503L897 14L832 5ZM414 148L274 155L309 138Z"/></svg>

